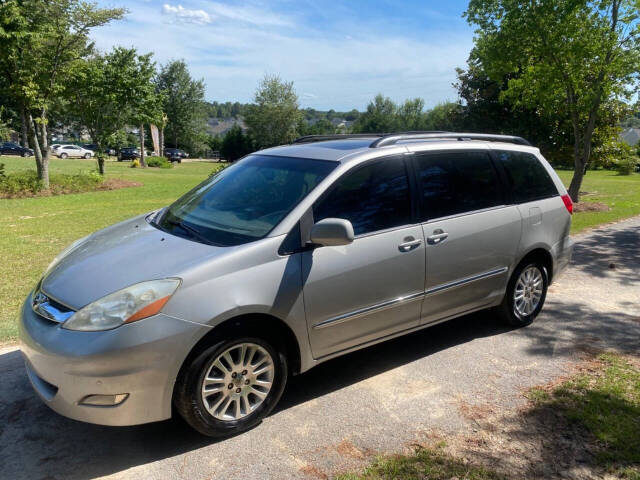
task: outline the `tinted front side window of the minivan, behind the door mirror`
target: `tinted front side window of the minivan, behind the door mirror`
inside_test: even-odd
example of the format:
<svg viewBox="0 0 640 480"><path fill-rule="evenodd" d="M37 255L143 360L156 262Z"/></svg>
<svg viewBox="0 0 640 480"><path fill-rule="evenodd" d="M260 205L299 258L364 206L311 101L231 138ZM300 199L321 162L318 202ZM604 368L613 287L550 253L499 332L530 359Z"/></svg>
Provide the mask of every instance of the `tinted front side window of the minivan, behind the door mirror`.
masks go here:
<svg viewBox="0 0 640 480"><path fill-rule="evenodd" d="M344 218L356 235L411 221L409 182L404 162L394 158L357 168L338 179L313 208L314 220Z"/></svg>

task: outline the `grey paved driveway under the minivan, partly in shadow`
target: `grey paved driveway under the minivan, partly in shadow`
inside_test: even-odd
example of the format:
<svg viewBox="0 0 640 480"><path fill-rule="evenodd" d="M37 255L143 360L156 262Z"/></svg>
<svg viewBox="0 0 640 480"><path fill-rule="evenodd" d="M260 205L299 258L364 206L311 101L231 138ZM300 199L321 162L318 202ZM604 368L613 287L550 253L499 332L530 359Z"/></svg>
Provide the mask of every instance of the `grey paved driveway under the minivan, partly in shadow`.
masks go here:
<svg viewBox="0 0 640 480"><path fill-rule="evenodd" d="M63 418L33 393L20 352L0 349L0 478L326 478L468 429L474 408L517 410L525 389L584 352L640 351L640 217L576 240L532 326L474 314L330 361L293 378L260 426L220 442L178 419L112 428Z"/></svg>

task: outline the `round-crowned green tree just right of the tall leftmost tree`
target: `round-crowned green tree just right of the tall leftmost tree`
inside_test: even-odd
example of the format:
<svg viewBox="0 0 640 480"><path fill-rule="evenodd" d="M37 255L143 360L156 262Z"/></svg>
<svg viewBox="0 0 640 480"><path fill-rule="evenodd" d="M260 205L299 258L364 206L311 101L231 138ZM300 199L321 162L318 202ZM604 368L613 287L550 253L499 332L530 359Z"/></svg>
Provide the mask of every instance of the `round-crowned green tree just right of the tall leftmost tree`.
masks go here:
<svg viewBox="0 0 640 480"><path fill-rule="evenodd" d="M70 115L98 146L98 169L104 174L104 150L127 125L149 122L159 112L152 82L151 54L116 47L77 65L68 85ZM142 128L141 128L142 130ZM144 149L144 147L142 147Z"/></svg>

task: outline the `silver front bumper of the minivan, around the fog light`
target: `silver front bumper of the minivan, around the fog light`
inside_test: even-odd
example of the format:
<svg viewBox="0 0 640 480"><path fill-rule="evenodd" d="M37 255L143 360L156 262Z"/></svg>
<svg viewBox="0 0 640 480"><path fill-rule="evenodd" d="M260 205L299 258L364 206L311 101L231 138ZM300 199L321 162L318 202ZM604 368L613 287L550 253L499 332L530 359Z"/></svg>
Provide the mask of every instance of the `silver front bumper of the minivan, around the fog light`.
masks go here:
<svg viewBox="0 0 640 480"><path fill-rule="evenodd" d="M27 374L40 398L65 417L137 425L171 417L182 362L209 327L163 314L103 332L75 332L38 316L31 295L20 311ZM128 394L115 406L81 405L88 395Z"/></svg>

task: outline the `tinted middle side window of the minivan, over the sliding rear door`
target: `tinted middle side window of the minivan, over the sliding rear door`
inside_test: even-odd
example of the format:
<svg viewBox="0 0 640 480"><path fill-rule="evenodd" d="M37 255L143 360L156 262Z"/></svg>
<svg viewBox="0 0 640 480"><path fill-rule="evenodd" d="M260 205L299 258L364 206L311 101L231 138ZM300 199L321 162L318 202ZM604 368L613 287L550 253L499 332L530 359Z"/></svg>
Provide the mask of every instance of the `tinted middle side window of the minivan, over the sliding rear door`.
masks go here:
<svg viewBox="0 0 640 480"><path fill-rule="evenodd" d="M417 158L422 219L502 205L500 182L485 152L448 152Z"/></svg>

